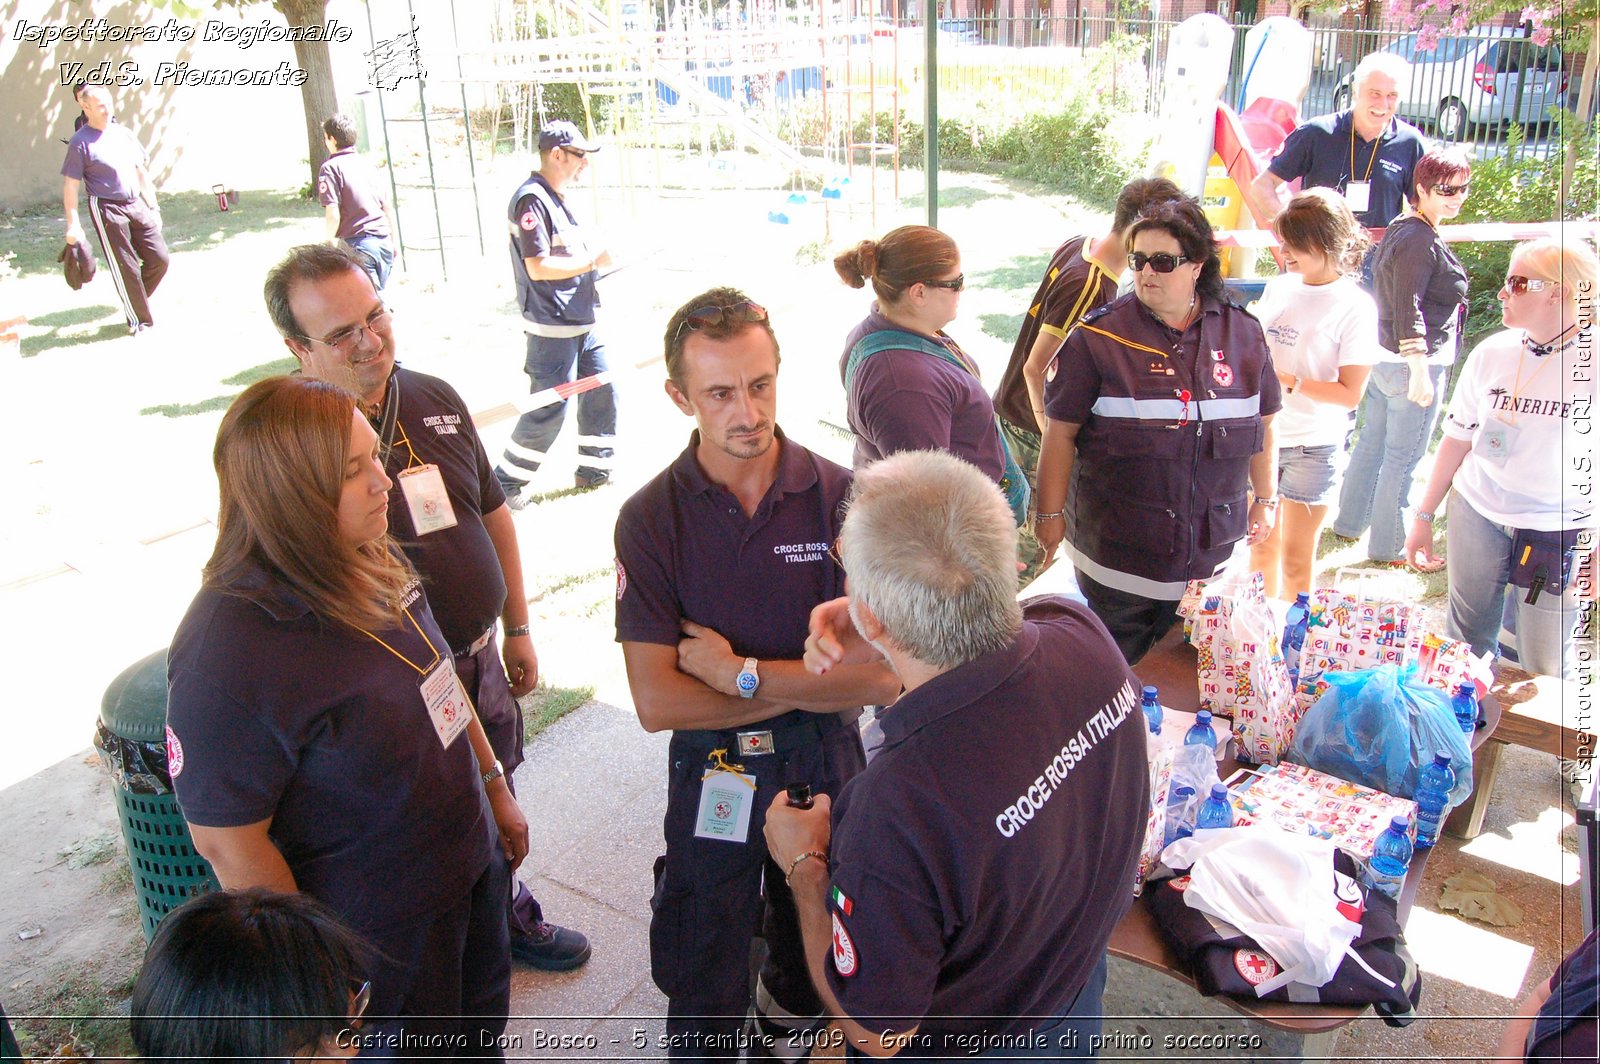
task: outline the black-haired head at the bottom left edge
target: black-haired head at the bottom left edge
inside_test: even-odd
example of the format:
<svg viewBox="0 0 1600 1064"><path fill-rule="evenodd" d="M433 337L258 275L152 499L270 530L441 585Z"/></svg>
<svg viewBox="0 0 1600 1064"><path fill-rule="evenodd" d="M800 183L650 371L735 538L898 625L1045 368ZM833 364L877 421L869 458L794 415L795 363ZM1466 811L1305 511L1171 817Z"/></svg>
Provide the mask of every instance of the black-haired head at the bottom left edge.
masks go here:
<svg viewBox="0 0 1600 1064"><path fill-rule="evenodd" d="M133 986L144 1061L339 1059L362 1048L368 947L307 894L213 891L166 914Z"/></svg>

